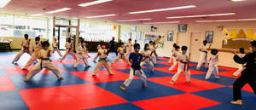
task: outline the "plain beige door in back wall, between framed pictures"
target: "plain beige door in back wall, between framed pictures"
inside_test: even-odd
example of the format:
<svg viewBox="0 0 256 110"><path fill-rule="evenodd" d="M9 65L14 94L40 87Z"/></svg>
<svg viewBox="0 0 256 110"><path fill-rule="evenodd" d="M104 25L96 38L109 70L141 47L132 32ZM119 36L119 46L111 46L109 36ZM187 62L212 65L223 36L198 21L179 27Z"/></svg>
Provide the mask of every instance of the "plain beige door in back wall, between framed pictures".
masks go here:
<svg viewBox="0 0 256 110"><path fill-rule="evenodd" d="M199 48L203 41L203 34L201 32L191 32L190 35L190 61L198 62L200 56Z"/></svg>

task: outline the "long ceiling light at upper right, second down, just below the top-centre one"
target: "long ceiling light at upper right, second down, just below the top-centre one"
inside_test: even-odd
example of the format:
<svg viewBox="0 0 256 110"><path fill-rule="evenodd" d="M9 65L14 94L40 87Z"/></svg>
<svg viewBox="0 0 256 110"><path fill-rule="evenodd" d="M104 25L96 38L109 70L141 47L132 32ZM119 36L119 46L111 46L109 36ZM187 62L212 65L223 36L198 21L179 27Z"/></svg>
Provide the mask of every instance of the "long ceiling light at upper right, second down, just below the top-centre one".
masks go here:
<svg viewBox="0 0 256 110"><path fill-rule="evenodd" d="M201 15L173 16L173 17L166 17L166 19L198 18L198 17L222 16L222 15L232 15L232 14L236 14L236 13L227 13L227 14L201 14Z"/></svg>

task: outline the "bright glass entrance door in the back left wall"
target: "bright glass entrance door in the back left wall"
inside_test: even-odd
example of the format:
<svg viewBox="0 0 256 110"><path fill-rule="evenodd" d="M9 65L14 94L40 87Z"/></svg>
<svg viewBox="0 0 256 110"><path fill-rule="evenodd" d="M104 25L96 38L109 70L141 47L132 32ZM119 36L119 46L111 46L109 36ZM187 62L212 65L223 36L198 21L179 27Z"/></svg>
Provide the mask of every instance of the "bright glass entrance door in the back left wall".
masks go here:
<svg viewBox="0 0 256 110"><path fill-rule="evenodd" d="M65 44L67 41L67 27L66 26L55 26L55 33L59 41L59 49L65 50Z"/></svg>

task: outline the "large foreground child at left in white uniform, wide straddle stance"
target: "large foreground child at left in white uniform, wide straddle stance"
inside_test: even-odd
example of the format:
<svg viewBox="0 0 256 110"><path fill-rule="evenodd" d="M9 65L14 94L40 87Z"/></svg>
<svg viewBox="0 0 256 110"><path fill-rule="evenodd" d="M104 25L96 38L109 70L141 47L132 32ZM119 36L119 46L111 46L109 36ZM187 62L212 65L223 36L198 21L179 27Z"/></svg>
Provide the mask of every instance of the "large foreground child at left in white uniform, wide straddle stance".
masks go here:
<svg viewBox="0 0 256 110"><path fill-rule="evenodd" d="M52 71L55 76L58 79L63 79L61 76L60 70L58 70L57 67L49 60L51 50L49 49L49 43L48 41L44 41L42 43L43 49L40 50L40 61L38 64L32 68L30 72L26 75L26 78L24 78L24 81L27 82L30 78L32 78L35 74L40 72L43 68L48 68L50 71Z"/></svg>

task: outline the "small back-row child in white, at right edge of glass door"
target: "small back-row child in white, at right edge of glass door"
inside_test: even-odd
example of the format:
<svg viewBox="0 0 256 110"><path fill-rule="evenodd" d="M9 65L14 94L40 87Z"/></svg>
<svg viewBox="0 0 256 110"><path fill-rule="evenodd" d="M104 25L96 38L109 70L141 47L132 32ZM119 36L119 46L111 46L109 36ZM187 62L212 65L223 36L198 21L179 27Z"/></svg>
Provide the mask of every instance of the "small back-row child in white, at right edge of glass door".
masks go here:
<svg viewBox="0 0 256 110"><path fill-rule="evenodd" d="M62 57L61 61L63 61L67 55L72 55L73 59L77 61L77 58L73 53L73 43L71 43L71 38L67 38L67 43L65 44L65 47L67 50L65 55Z"/></svg>

